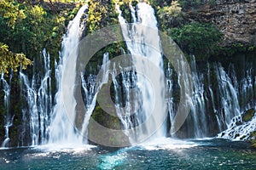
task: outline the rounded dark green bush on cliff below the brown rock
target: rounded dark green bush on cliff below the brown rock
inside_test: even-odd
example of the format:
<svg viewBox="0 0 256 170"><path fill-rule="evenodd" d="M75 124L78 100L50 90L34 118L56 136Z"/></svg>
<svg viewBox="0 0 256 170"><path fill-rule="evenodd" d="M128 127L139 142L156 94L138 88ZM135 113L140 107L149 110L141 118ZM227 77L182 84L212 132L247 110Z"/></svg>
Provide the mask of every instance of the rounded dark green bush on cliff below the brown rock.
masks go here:
<svg viewBox="0 0 256 170"><path fill-rule="evenodd" d="M168 33L185 52L198 56L215 54L218 42L222 37L216 27L197 22L171 28Z"/></svg>

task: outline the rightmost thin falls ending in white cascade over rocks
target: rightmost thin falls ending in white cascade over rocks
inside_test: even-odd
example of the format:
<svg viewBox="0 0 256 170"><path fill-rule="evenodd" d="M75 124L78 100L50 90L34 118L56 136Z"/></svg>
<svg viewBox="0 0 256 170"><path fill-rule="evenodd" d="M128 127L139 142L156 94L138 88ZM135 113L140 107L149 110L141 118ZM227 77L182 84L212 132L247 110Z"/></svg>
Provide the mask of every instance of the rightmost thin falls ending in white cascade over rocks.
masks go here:
<svg viewBox="0 0 256 170"><path fill-rule="evenodd" d="M224 139L250 139L250 136L256 130L256 115L252 116L250 120L243 121L242 117L245 112L250 110L256 110L256 102L255 102L255 89L256 89L256 77L253 77L253 68L250 67L245 71L244 77L241 78L241 82L236 82L236 95L240 97L240 105L241 111L237 113L238 107L235 108L236 115L232 117L228 124L227 129L223 129L224 131L218 133L219 138ZM234 75L234 74L233 74ZM253 81L254 80L254 81ZM239 85L237 85L239 84ZM234 91L234 90L232 90ZM234 96L234 95L233 95ZM233 96L231 96L233 98ZM236 98L235 98L236 101ZM225 115L226 116L226 115Z"/></svg>

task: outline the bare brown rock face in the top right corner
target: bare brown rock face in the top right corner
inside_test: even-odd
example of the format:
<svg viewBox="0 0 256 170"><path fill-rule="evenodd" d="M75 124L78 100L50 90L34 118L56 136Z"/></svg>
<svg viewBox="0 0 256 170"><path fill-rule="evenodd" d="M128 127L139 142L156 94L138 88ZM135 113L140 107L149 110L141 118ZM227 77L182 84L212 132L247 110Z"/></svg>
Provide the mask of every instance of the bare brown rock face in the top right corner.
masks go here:
<svg viewBox="0 0 256 170"><path fill-rule="evenodd" d="M224 34L222 46L241 43L256 46L255 0L205 0L195 8L184 8L189 20L212 23Z"/></svg>

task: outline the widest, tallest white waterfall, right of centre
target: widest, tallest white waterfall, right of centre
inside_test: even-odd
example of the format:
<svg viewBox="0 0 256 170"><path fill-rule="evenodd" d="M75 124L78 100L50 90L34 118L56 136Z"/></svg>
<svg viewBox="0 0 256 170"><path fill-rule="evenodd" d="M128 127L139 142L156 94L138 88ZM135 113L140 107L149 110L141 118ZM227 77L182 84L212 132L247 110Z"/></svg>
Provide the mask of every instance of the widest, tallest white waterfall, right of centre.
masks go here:
<svg viewBox="0 0 256 170"><path fill-rule="evenodd" d="M166 135L166 126L159 126L161 121L166 118L166 87L160 48L160 36L158 34L154 9L147 3L138 3L136 9L130 5L130 9L132 24L129 25L127 23L118 8L119 23L127 48L131 54L132 65L137 74L135 76L135 72L123 73L123 77L136 77L136 80L132 81L136 82L137 104L140 105L140 110L132 113L130 107L133 105L132 102L134 101L129 101L129 97L127 97L125 118L124 116L119 116L119 118L125 125L125 130L133 127L133 129L126 134L129 136L131 144L136 144L137 142L148 140L149 137L154 139ZM142 57L144 58L144 62L140 59ZM145 62L145 59L147 59L148 62ZM151 67L148 63L154 66ZM131 76L127 74L131 74ZM150 77L157 78L151 79ZM150 81L154 80L154 82L148 82L147 78L149 78ZM124 83L123 86L125 86L125 84L127 83ZM127 87L124 88L128 89ZM129 92L125 94L127 93L129 94ZM117 111L119 112L119 109L117 109ZM127 118L127 116L131 116L131 114L133 114L132 121L130 118ZM124 115L124 113L119 113L118 115ZM154 118L152 119L151 117Z"/></svg>

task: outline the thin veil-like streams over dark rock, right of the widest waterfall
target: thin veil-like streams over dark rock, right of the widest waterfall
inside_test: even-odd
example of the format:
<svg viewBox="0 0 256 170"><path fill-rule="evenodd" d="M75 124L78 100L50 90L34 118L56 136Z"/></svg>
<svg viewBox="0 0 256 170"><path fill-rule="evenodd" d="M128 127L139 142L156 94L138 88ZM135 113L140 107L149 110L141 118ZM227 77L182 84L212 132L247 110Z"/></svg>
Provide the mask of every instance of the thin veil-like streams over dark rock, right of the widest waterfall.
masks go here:
<svg viewBox="0 0 256 170"><path fill-rule="evenodd" d="M212 70L208 64L207 69L203 68L203 70L198 71L195 63L195 56L190 56L190 61L194 94L192 96L189 117L185 123L185 128L181 130L181 132L186 131L186 134L182 134L181 136L178 134L177 136L183 138L204 138L212 136L212 134L215 135L227 127L230 127L230 123L234 122L231 119L234 116L239 116L241 114L238 98L241 93L249 94L249 91L252 92L251 89L253 87L252 85L248 85L248 82L253 82L253 78L247 77L246 81L242 79L242 81L238 83L232 66L230 66L229 74L224 71L224 68L220 64L213 64ZM179 69L182 69L182 67L180 66ZM179 72L183 71L181 70ZM172 124L173 117L177 110L175 102L173 102L177 100L177 96L173 96L173 90L177 91L177 89L174 89L174 86L175 84L178 84L180 88L182 87L179 84L181 77L177 75L177 82L175 82L170 75L172 75L172 69L169 65L166 70L168 85L167 104L170 114L170 122ZM216 83L214 86L212 84L212 75L216 75L217 86ZM240 84L241 87L247 87L243 89L248 90L248 92L238 92L238 84ZM213 91L215 91L216 94L213 94ZM250 97L249 99L253 98ZM213 130L209 127L218 127L218 129Z"/></svg>

